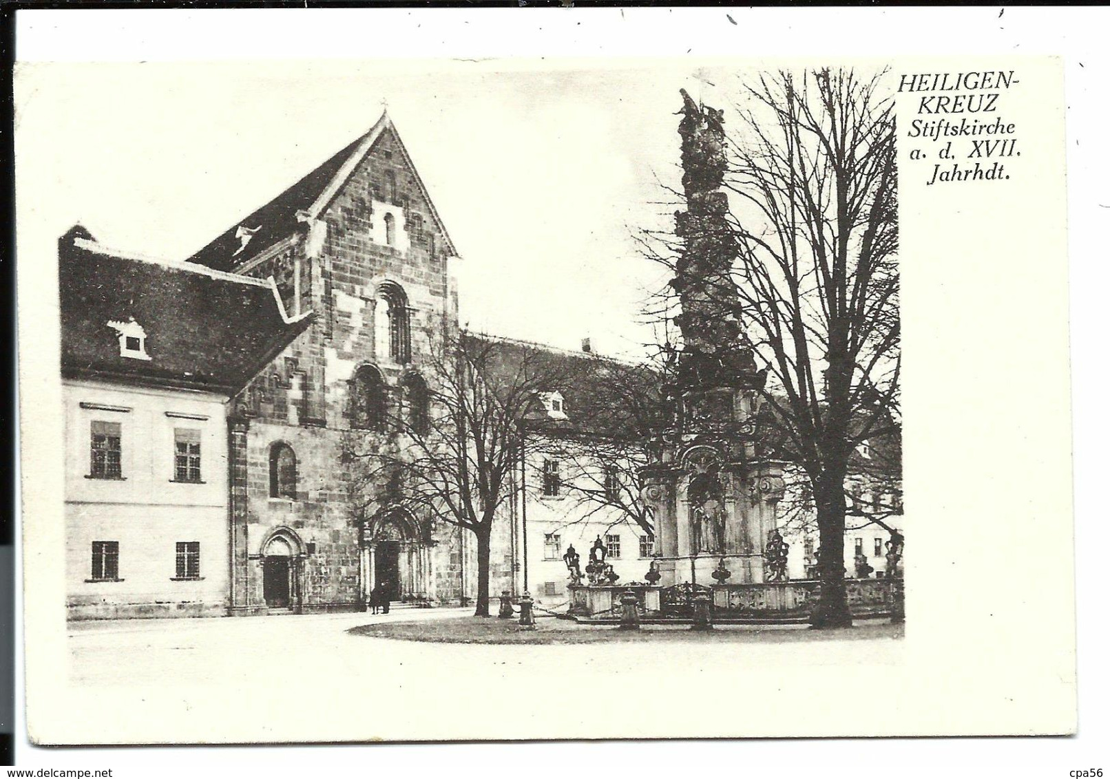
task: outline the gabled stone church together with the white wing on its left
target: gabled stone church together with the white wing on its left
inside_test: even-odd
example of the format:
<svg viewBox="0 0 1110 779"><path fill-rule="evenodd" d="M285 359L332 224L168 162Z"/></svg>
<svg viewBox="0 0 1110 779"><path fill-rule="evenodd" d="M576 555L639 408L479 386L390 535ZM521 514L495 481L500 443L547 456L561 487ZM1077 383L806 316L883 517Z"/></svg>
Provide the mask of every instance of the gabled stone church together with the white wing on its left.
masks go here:
<svg viewBox="0 0 1110 779"><path fill-rule="evenodd" d="M473 595L468 533L386 506L360 516L342 468L344 436L381 428L387 409L427 414L430 341L457 328L454 260L385 113L186 262L67 233L71 617ZM494 532L492 591L512 578L509 529Z"/></svg>

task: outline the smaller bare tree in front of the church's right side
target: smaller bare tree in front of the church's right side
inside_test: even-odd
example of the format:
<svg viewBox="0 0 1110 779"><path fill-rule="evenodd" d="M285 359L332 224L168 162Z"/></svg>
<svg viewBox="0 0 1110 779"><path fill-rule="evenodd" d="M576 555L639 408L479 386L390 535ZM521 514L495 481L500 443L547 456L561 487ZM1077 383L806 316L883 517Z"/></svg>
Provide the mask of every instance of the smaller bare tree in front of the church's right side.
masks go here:
<svg viewBox="0 0 1110 779"><path fill-rule="evenodd" d="M513 496L521 425L557 380L538 347L446 328L430 342L418 384L402 380L380 429L350 436L350 484L364 522L404 507L474 534L474 614L485 617L491 535Z"/></svg>

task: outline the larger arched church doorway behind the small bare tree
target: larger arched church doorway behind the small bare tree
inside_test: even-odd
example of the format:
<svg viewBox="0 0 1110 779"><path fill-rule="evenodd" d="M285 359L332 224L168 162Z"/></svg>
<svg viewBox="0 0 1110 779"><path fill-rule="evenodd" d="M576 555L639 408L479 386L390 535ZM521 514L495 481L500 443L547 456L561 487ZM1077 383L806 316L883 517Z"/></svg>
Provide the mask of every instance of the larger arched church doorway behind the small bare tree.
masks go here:
<svg viewBox="0 0 1110 779"><path fill-rule="evenodd" d="M375 588L391 601L430 604L434 599L431 547L406 510L390 509L365 522L360 568L367 603Z"/></svg>

